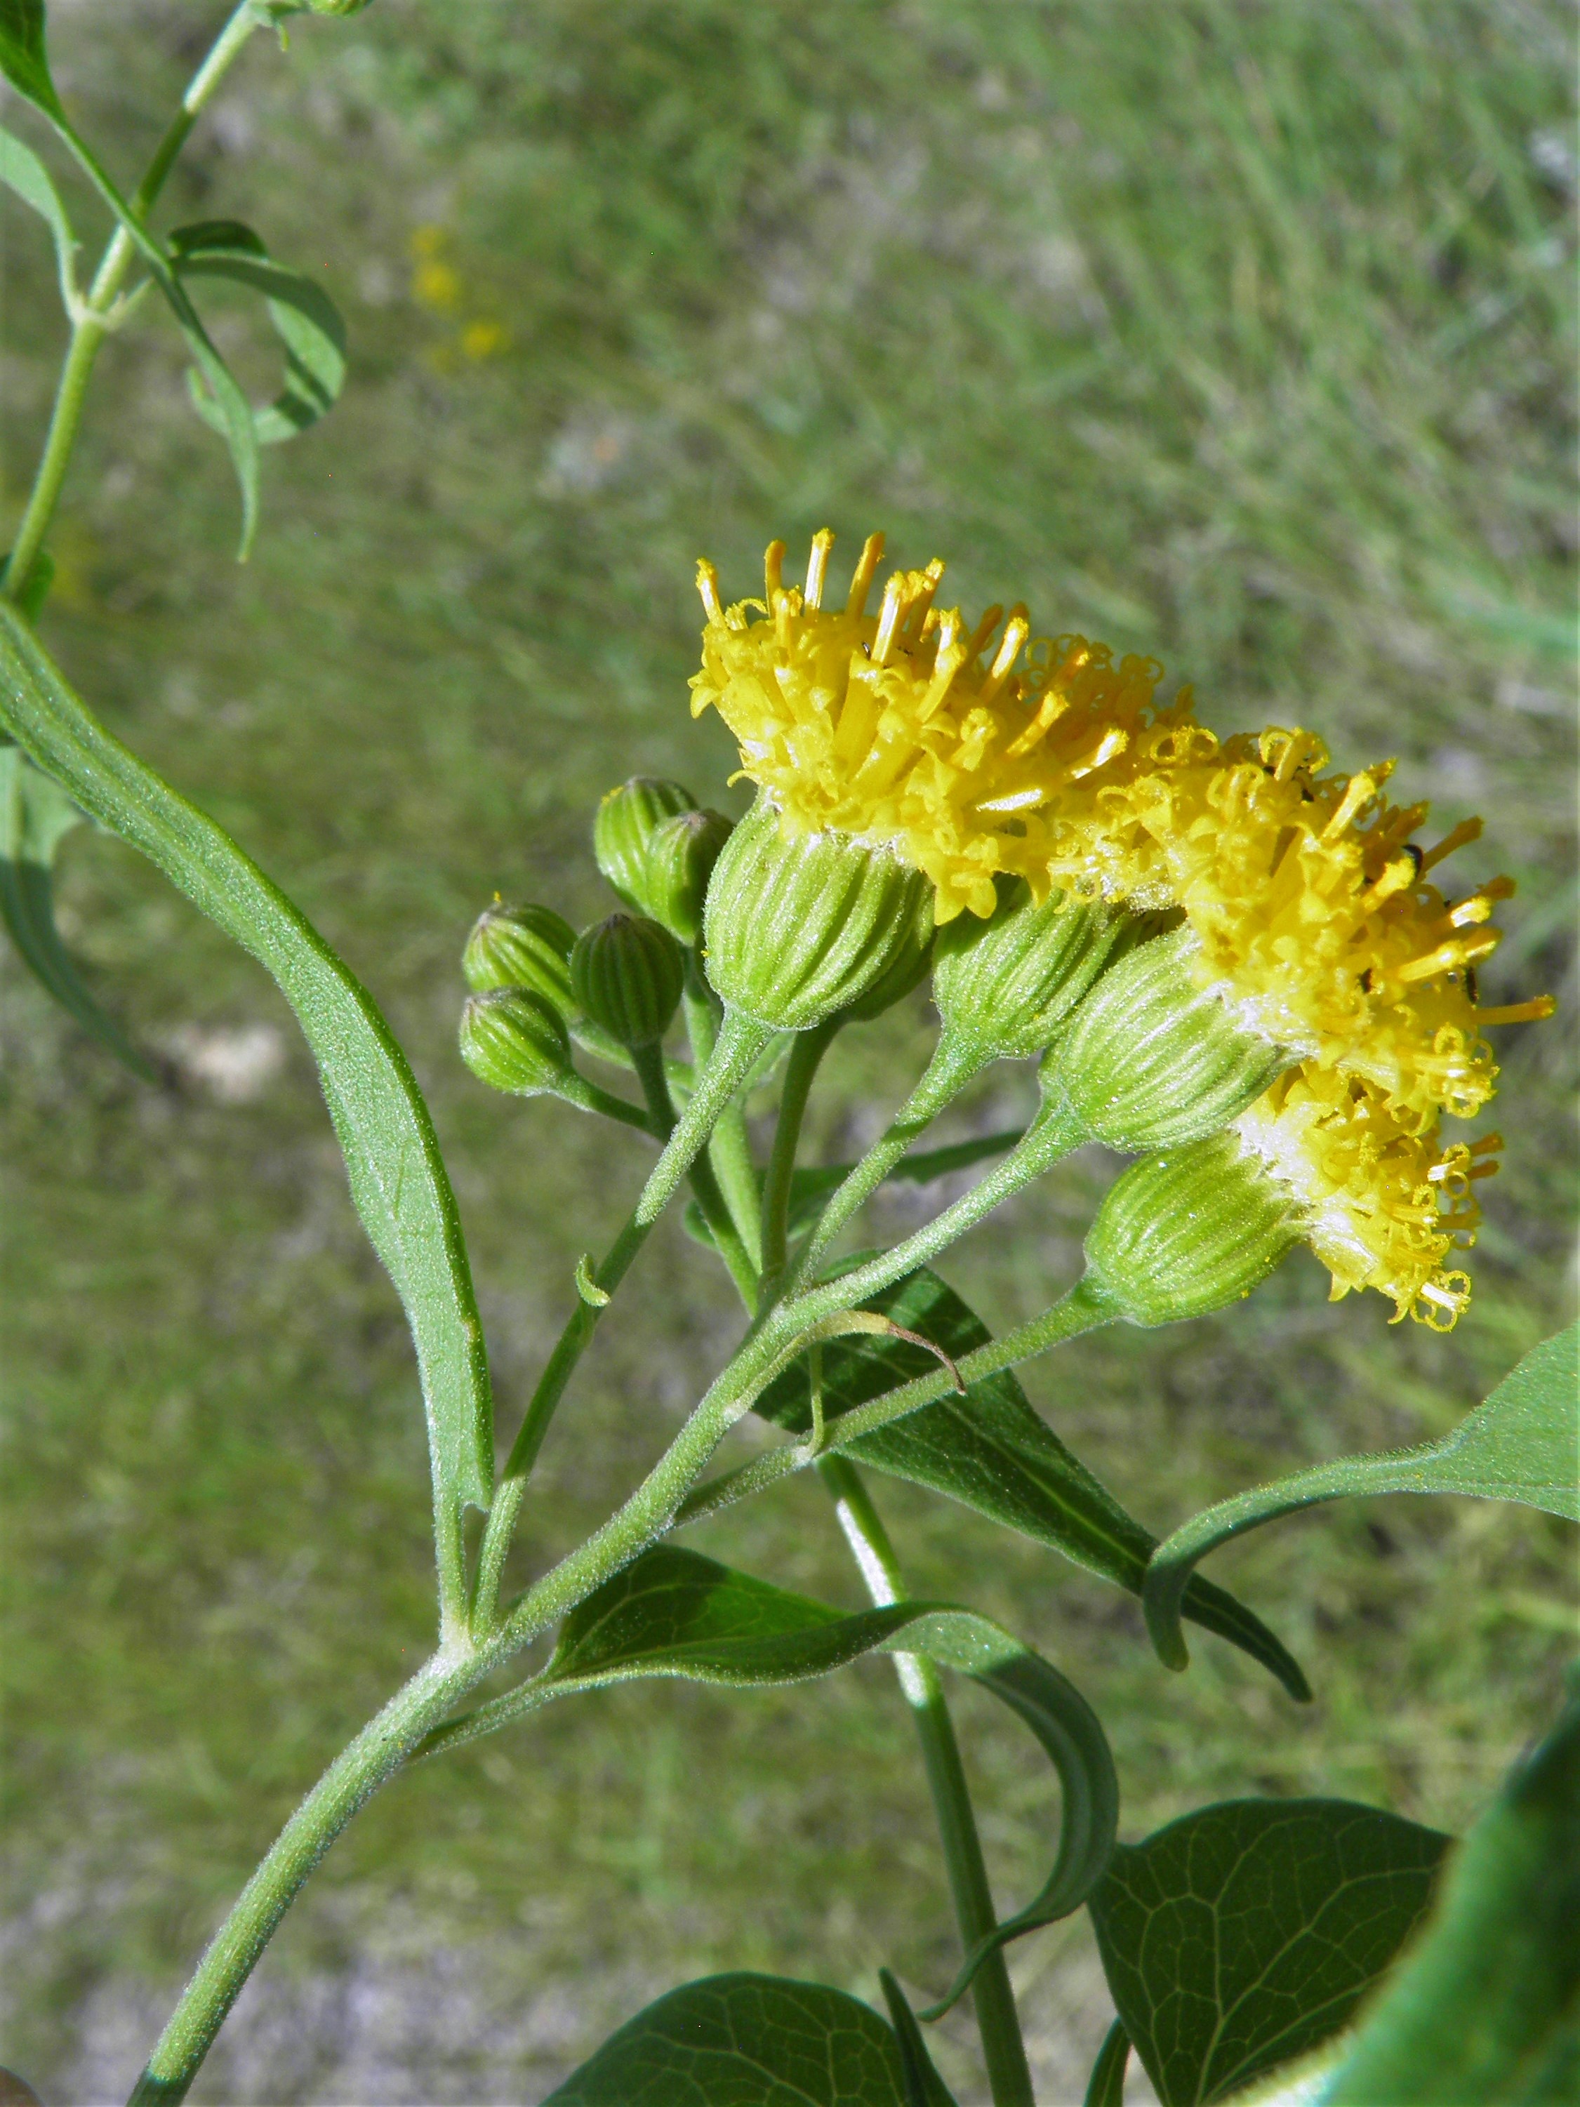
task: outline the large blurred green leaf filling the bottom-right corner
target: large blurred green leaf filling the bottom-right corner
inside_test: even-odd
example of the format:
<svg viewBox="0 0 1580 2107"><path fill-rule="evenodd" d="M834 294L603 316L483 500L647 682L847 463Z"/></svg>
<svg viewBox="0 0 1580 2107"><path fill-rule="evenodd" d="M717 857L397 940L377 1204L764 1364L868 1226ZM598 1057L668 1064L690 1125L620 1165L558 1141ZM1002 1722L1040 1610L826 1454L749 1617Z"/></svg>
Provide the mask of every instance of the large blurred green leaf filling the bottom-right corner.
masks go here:
<svg viewBox="0 0 1580 2107"><path fill-rule="evenodd" d="M1468 1833L1329 2107L1580 2099L1580 1700Z"/></svg>

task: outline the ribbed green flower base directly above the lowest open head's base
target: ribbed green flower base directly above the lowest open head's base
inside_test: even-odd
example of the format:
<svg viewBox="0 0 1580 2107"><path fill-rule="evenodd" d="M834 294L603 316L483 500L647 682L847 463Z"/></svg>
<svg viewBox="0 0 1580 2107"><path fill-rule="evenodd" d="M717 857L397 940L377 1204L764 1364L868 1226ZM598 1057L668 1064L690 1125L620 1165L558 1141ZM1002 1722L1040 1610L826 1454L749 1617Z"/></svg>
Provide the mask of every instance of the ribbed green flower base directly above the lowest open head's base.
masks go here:
<svg viewBox="0 0 1580 2107"><path fill-rule="evenodd" d="M1049 1094L1110 1148L1173 1148L1216 1134L1293 1060L1197 986L1194 942L1173 929L1123 957L1047 1056Z"/></svg>

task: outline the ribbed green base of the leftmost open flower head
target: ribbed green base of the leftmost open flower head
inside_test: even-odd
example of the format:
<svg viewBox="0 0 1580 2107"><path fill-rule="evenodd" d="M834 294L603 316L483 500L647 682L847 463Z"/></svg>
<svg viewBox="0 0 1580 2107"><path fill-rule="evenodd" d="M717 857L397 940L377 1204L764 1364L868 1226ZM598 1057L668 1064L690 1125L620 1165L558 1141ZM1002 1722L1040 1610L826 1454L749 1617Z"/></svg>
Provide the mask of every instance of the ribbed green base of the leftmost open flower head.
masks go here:
<svg viewBox="0 0 1580 2107"><path fill-rule="evenodd" d="M708 885L708 980L733 1009L805 1032L925 946L931 921L919 870L849 834L782 834L758 799Z"/></svg>

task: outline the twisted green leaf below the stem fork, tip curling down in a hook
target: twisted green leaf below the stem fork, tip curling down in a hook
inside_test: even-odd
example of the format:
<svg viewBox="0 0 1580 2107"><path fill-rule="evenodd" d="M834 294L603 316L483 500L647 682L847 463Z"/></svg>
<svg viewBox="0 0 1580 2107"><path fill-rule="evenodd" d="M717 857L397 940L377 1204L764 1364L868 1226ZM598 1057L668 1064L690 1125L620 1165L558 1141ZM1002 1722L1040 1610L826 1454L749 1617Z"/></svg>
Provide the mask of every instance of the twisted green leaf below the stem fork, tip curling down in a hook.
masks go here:
<svg viewBox="0 0 1580 2107"><path fill-rule="evenodd" d="M994 1947L1081 1907L1119 1825L1119 1783L1098 1715L1049 1660L986 1616L937 1601L845 1614L697 1551L655 1544L571 1610L541 1675L436 1728L417 1753L476 1740L579 1690L649 1675L727 1688L794 1683L874 1650L927 1654L971 1675L1032 1730L1060 1774L1053 1871L1024 1911L967 1955L948 2004Z"/></svg>

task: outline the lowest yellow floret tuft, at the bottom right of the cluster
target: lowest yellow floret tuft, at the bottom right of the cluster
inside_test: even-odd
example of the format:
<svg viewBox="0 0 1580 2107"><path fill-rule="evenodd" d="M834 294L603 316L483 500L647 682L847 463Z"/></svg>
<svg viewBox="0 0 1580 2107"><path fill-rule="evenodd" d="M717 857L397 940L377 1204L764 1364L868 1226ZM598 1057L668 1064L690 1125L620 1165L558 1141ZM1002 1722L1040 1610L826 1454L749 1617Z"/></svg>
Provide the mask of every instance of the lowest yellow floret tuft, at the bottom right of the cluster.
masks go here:
<svg viewBox="0 0 1580 2107"><path fill-rule="evenodd" d="M1470 1188L1498 1169L1496 1134L1439 1150L1359 1077L1315 1064L1279 1077L1232 1131L1293 1195L1306 1241L1334 1275L1334 1302L1378 1287L1393 1296L1395 1323L1454 1330L1470 1275L1443 1260L1475 1243L1481 1209Z"/></svg>

